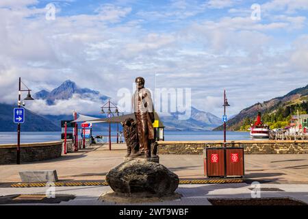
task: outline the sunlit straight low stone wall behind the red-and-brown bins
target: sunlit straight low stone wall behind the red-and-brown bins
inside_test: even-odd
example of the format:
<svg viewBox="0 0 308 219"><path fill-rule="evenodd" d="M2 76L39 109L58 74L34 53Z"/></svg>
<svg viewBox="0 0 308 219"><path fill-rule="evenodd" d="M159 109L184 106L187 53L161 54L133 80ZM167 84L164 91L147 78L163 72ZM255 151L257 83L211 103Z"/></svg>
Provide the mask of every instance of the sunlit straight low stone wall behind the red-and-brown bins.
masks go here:
<svg viewBox="0 0 308 219"><path fill-rule="evenodd" d="M222 147L222 141L190 141L167 142L159 141L159 154L201 155L207 147ZM308 140L242 140L227 141L227 147L244 147L244 153L308 153Z"/></svg>

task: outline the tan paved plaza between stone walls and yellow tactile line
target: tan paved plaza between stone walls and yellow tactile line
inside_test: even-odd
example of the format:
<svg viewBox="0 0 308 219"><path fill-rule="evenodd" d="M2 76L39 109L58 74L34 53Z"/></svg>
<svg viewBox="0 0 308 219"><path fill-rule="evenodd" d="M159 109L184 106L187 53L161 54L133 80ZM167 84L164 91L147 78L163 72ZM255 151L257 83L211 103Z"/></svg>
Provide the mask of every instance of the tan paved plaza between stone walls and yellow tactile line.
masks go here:
<svg viewBox="0 0 308 219"><path fill-rule="evenodd" d="M21 165L0 165L0 185L20 182L20 170L57 170L60 181L105 179L111 169L123 162L125 144L92 146L57 159ZM180 179L204 179L202 155L160 155L160 164ZM266 183L308 184L308 154L245 155L245 178Z"/></svg>

